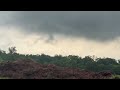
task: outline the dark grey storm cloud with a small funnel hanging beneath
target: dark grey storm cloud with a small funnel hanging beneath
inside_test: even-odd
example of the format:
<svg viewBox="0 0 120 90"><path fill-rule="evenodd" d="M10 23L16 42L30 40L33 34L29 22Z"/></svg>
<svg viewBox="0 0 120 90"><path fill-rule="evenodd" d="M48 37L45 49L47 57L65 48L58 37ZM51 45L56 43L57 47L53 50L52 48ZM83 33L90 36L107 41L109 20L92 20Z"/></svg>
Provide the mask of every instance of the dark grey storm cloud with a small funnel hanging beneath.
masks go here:
<svg viewBox="0 0 120 90"><path fill-rule="evenodd" d="M12 13L12 19L6 23L20 27L29 34L48 34L50 40L53 40L56 34L98 41L109 41L120 36L120 12L117 11L18 11Z"/></svg>

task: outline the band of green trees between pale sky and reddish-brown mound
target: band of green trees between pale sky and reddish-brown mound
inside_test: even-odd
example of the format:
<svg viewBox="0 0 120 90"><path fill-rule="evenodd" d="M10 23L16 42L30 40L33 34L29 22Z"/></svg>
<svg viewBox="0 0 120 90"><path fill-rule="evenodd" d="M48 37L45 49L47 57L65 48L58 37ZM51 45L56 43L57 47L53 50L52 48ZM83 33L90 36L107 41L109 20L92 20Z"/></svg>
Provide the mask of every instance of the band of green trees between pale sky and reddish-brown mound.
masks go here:
<svg viewBox="0 0 120 90"><path fill-rule="evenodd" d="M16 47L9 47L8 53L0 49L0 62L13 61L18 59L32 59L42 64L55 64L61 67L80 68L94 72L109 70L114 74L120 74L120 60L112 58L94 58L85 56L84 58L75 55L62 56L55 55L49 56L45 54L19 54Z"/></svg>

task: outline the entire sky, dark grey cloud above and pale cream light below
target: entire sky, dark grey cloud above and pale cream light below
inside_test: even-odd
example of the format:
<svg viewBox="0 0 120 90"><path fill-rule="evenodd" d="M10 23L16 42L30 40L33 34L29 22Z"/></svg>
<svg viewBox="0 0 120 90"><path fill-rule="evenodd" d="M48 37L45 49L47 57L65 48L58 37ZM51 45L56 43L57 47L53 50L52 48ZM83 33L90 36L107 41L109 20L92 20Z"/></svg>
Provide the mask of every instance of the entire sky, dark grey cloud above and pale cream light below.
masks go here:
<svg viewBox="0 0 120 90"><path fill-rule="evenodd" d="M120 59L119 11L0 11L0 48Z"/></svg>

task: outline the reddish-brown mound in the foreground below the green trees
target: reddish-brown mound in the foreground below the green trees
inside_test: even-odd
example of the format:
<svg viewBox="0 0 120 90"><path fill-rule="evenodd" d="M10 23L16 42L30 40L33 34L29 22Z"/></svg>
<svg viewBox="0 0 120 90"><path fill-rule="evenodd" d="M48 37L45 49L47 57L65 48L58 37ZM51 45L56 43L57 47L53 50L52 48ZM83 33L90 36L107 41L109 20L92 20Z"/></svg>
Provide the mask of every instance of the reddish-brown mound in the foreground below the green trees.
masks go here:
<svg viewBox="0 0 120 90"><path fill-rule="evenodd" d="M13 79L102 79L109 78L111 75L110 72L94 73L55 65L43 65L32 60L17 60L0 64L0 77Z"/></svg>

